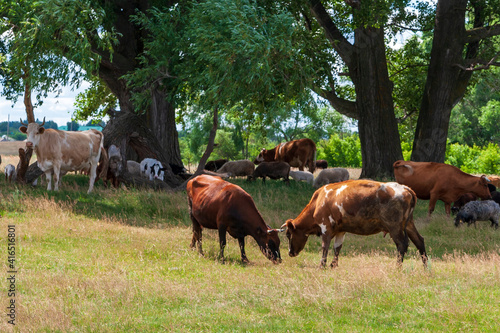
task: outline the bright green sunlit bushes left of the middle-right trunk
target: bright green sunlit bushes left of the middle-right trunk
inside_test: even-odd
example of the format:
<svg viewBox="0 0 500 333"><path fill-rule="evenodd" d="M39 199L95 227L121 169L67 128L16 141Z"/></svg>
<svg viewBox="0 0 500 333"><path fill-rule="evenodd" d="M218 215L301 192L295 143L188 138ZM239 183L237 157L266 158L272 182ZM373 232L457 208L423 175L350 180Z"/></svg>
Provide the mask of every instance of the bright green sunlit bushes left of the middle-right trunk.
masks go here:
<svg viewBox="0 0 500 333"><path fill-rule="evenodd" d="M324 159L331 167L361 167L361 143L357 134L333 134L329 140L317 144L317 159Z"/></svg>

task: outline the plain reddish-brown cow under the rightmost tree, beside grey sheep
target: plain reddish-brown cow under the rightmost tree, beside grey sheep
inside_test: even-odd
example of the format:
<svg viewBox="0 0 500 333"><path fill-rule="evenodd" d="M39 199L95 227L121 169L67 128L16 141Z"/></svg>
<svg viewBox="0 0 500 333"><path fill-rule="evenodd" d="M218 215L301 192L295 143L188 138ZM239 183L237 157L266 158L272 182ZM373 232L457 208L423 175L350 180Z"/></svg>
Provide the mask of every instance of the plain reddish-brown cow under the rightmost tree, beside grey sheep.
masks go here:
<svg viewBox="0 0 500 333"><path fill-rule="evenodd" d="M411 187L419 199L430 200L429 218L438 200L444 202L449 217L451 203L465 193L491 199L488 178L469 175L453 165L399 160L394 162L393 167L398 183Z"/></svg>

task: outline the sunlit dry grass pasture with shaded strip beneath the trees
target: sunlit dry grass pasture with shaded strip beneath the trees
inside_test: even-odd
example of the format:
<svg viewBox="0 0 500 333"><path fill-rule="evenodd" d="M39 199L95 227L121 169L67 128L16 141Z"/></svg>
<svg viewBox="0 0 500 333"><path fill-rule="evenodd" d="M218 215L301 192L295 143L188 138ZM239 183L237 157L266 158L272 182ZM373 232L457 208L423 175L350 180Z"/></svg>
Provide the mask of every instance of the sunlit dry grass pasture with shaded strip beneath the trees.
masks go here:
<svg viewBox="0 0 500 333"><path fill-rule="evenodd" d="M6 184L0 173L3 276L9 225L17 269L16 325L3 315L1 332L499 331L500 230L489 222L455 228L443 205L430 221L427 201L415 212L427 270L413 245L397 269L395 245L382 234L347 235L334 270L318 268L315 236L290 258L281 235L279 265L251 238L250 264L241 264L238 244L228 237L223 265L215 231L204 231L205 257L189 248L184 192L98 184L87 195L87 182L67 175L59 192L48 193ZM234 182L273 227L296 217L313 193L305 183ZM1 280L5 313L11 286Z"/></svg>

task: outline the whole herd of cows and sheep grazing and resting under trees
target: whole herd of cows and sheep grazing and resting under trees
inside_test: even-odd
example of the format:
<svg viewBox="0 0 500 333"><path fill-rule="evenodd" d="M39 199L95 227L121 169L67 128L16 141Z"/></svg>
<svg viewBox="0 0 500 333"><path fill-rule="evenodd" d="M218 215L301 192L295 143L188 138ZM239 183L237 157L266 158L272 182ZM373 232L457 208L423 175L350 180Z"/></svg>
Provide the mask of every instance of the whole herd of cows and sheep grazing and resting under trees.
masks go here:
<svg viewBox="0 0 500 333"><path fill-rule="evenodd" d="M48 180L48 190L52 189L52 176L57 190L60 177L66 172L87 169L90 175L88 192L91 192L101 154L104 160L119 155L114 146L108 151L104 149L103 135L95 130L66 132L44 129L44 123L23 125L20 130L27 134L26 146L35 150L38 166ZM488 179L469 175L443 163L396 161L393 165L396 182L378 182L349 180L347 170L327 166L326 161L316 161L316 145L310 139L262 149L254 162L210 161L206 169L215 173L191 178L187 183L189 215L193 223L191 246L197 246L202 254L202 229L217 229L221 260L224 258L226 233L229 233L238 240L241 259L246 262L244 238L250 235L264 255L277 263L281 261L279 232L286 231L291 257L300 253L310 235L316 235L322 238L322 266L326 265L333 240L331 266L336 267L346 233L372 235L383 232L384 236L389 234L396 244L399 265L411 240L426 266L424 239L413 221L417 198L429 200L429 218L437 200L442 200L448 216L452 211L451 204L455 203L457 226L461 221L470 224L476 220L490 220L492 226L498 228L500 193L494 186L500 182L498 177ZM6 167L6 177L15 172L12 167ZM299 171L291 171L291 167L297 167ZM305 167L309 172L304 171ZM316 167L323 170L313 179ZM135 170L150 180L163 180L166 170L155 159L144 159L141 163L128 161L127 168L129 172ZM101 174L105 174L106 169L107 166ZM247 176L249 180L262 178L263 181L266 177L283 178L286 182L290 176L310 182L318 189L298 217L287 220L279 229L273 229L265 223L252 197L220 176ZM477 201L478 198L485 201Z"/></svg>

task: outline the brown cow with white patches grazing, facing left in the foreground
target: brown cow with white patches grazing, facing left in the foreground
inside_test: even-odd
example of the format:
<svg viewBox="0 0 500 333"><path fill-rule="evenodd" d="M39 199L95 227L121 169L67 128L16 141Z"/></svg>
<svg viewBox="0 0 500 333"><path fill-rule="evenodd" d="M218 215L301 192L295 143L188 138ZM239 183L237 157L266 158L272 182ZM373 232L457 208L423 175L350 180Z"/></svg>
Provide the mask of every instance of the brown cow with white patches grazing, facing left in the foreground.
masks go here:
<svg viewBox="0 0 500 333"><path fill-rule="evenodd" d="M346 232L357 235L384 232L396 243L399 265L403 262L410 237L426 266L424 239L413 223L416 202L417 197L409 187L395 182L347 180L325 185L314 192L296 219L289 219L282 225L282 228L287 228L289 255L297 256L309 235L317 235L323 241L321 267L326 265L332 239L335 258L331 267L337 267Z"/></svg>

